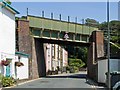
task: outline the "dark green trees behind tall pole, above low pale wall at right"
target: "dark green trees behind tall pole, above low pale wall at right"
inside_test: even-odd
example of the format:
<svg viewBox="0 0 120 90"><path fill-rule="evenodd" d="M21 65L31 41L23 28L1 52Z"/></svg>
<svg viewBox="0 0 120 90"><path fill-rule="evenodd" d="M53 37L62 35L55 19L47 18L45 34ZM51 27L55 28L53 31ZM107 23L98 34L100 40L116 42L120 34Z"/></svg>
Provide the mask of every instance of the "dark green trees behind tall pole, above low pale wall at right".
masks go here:
<svg viewBox="0 0 120 90"><path fill-rule="evenodd" d="M110 56L111 57L119 57L119 47L120 47L120 21L117 20L112 20L109 22L109 27L110 27L110 41L111 43L110 46ZM104 38L107 39L108 37L108 23L103 22L99 25L99 29L104 32Z"/></svg>

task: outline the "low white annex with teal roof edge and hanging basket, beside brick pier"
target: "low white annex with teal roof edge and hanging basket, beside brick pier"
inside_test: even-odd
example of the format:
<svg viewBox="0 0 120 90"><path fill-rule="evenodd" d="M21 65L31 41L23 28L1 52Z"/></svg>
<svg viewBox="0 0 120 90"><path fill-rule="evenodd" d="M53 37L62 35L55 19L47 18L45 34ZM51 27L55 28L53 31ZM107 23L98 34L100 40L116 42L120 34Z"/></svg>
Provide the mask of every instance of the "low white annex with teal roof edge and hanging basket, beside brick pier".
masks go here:
<svg viewBox="0 0 120 90"><path fill-rule="evenodd" d="M29 79L29 55L22 52L15 52L15 57L13 77L20 80Z"/></svg>

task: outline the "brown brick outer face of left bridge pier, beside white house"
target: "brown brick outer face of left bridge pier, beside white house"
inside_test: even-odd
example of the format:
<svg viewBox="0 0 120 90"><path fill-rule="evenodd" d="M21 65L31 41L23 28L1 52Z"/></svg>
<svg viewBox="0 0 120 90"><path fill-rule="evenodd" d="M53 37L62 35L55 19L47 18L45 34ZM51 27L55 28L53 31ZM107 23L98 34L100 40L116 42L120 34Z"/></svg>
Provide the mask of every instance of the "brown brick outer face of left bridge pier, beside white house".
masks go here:
<svg viewBox="0 0 120 90"><path fill-rule="evenodd" d="M32 37L30 37L30 30L29 30L29 21L27 20L18 20L16 21L16 37L18 43L18 51L29 54L29 78L31 79L32 67L31 67L31 60L32 60Z"/></svg>

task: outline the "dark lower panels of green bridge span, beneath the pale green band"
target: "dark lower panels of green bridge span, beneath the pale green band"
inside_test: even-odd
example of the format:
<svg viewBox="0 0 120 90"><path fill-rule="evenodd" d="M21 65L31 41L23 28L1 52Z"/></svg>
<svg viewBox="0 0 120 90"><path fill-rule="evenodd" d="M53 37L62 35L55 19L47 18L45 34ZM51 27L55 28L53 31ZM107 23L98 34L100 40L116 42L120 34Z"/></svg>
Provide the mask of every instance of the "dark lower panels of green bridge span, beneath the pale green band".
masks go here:
<svg viewBox="0 0 120 90"><path fill-rule="evenodd" d="M31 35L33 37L39 37L39 38L48 38L48 39L56 39L56 40L65 40L64 35L66 32L59 32L59 31L50 31L47 29L37 29L37 28L30 28ZM41 34L42 32L42 34ZM82 35L82 34L75 34L75 33L67 33L69 38L67 40L70 41L84 41L88 42L89 36L88 35Z"/></svg>

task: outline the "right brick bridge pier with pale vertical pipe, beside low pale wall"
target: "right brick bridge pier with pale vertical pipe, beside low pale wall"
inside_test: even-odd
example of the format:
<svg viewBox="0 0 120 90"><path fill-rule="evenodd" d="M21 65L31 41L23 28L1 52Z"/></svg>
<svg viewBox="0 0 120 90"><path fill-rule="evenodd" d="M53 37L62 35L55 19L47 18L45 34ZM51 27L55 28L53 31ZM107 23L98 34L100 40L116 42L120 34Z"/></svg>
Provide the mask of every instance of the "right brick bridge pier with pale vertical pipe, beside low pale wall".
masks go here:
<svg viewBox="0 0 120 90"><path fill-rule="evenodd" d="M104 56L104 36L101 31L93 31L88 50L88 76L97 81L98 78L98 58Z"/></svg>

